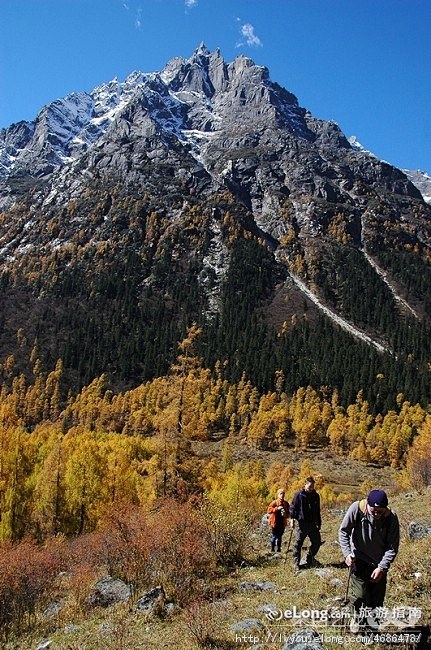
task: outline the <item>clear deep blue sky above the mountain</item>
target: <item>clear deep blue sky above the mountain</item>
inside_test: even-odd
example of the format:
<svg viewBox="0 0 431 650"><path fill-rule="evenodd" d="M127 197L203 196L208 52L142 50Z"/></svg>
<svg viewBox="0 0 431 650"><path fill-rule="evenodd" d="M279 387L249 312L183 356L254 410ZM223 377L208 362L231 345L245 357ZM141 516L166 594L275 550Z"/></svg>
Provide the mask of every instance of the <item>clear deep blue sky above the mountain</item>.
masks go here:
<svg viewBox="0 0 431 650"><path fill-rule="evenodd" d="M0 127L204 41L380 158L431 172L431 0L0 0Z"/></svg>

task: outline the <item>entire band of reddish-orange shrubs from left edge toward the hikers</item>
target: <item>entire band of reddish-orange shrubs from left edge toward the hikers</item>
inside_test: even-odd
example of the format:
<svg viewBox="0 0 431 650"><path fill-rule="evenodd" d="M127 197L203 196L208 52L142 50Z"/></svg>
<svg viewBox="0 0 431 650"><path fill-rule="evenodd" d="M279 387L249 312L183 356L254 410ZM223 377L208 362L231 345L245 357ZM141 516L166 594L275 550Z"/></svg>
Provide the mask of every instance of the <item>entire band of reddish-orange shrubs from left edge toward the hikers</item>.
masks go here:
<svg viewBox="0 0 431 650"><path fill-rule="evenodd" d="M247 514L246 514L247 513ZM58 599L67 613L83 611L94 582L111 575L127 582L134 597L161 585L181 606L209 596L220 565L244 556L250 511L203 499L156 501L150 511L121 503L103 527L74 540L52 538L44 546L23 541L0 548L0 635L20 634L34 616Z"/></svg>

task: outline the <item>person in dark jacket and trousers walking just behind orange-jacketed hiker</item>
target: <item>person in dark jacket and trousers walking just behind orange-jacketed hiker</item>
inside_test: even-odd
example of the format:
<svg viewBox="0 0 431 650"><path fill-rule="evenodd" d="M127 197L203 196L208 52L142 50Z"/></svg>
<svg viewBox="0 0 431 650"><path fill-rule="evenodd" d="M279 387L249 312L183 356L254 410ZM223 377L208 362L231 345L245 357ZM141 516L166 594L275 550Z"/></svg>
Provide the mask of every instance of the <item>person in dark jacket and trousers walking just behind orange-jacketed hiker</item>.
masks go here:
<svg viewBox="0 0 431 650"><path fill-rule="evenodd" d="M314 486L314 478L312 476L306 478L304 487L296 492L290 506L291 527L295 527L295 519L298 522L293 549L293 566L295 570L299 569L302 545L307 537L310 538L311 542L306 556L307 566L318 564L314 558L322 545L320 537L322 519L320 515L320 496Z"/></svg>

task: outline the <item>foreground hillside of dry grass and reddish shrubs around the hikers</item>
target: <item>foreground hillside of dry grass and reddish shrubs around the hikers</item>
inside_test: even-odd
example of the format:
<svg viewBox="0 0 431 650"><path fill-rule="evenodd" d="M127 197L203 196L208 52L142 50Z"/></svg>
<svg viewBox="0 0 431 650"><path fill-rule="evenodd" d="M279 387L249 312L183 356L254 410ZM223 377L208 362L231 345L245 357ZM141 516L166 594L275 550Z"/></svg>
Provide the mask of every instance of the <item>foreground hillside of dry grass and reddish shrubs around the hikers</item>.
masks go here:
<svg viewBox="0 0 431 650"><path fill-rule="evenodd" d="M407 527L412 521L430 523L430 518L424 515L429 511L428 502L429 491L394 494L390 498L390 505L400 518L402 540L388 576L385 605L390 612L412 609L420 612L418 624L421 625L429 625L431 616L431 537L412 541L407 536ZM8 569L17 581L14 598L17 599L20 588L23 598L31 595L31 585L38 580L41 584L41 572L47 584L35 599L33 611L25 612L21 603L20 623L8 628L2 648L260 647L279 650L283 646L282 638L311 627L323 635L325 648L347 646L356 650L363 645L354 640L348 618L335 619L333 625L319 620L325 612L343 611L347 569L343 567L336 539L347 505L340 503L336 508L324 508L325 543L318 554L322 567L302 570L299 574L292 571L288 531L282 553L271 554L269 529L262 527L256 517L247 519L241 499L237 509L224 505L222 512L214 503L208 503L211 516L201 511L203 519L194 519L189 505L177 504L175 511L173 504L169 504L173 517L166 521L165 528L159 525L156 530L148 529L148 520L142 513L123 510L117 513L116 528L112 518L109 535L105 530L105 536L95 534L75 543L57 540L56 547L47 545L43 550L21 547L20 557L9 555ZM206 525L200 529L199 524L205 521ZM2 578L6 555L2 554ZM55 570L47 557L51 561L55 557L58 563ZM13 562L26 564L29 580L25 587L18 585L20 573ZM50 567L51 575L47 576ZM106 608L90 607L91 586L108 574L121 576L141 588L126 602ZM152 582L146 583L149 579ZM156 583L164 587L170 605L145 615L135 609L136 601L146 588ZM53 606L55 603L58 607ZM15 604L18 612L20 603L15 600ZM307 612L311 610L317 613L310 620ZM285 618L286 611L300 614L297 619L289 619ZM395 632L402 633L403 628L395 628ZM377 644L377 647L405 646Z"/></svg>

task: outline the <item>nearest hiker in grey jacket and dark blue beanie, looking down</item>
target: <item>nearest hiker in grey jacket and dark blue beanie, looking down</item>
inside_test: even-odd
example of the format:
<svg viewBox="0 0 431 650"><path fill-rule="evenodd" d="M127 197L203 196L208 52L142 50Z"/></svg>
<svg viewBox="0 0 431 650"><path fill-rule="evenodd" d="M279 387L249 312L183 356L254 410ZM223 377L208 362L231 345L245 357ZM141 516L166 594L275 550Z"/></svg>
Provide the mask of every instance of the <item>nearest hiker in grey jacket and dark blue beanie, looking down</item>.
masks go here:
<svg viewBox="0 0 431 650"><path fill-rule="evenodd" d="M350 571L349 600L358 614L383 606L386 574L400 543L398 517L388 508L384 490L371 490L366 499L347 510L338 532L341 551ZM365 616L368 623L370 616ZM364 616L358 620L365 620ZM373 627L373 625L371 625Z"/></svg>

